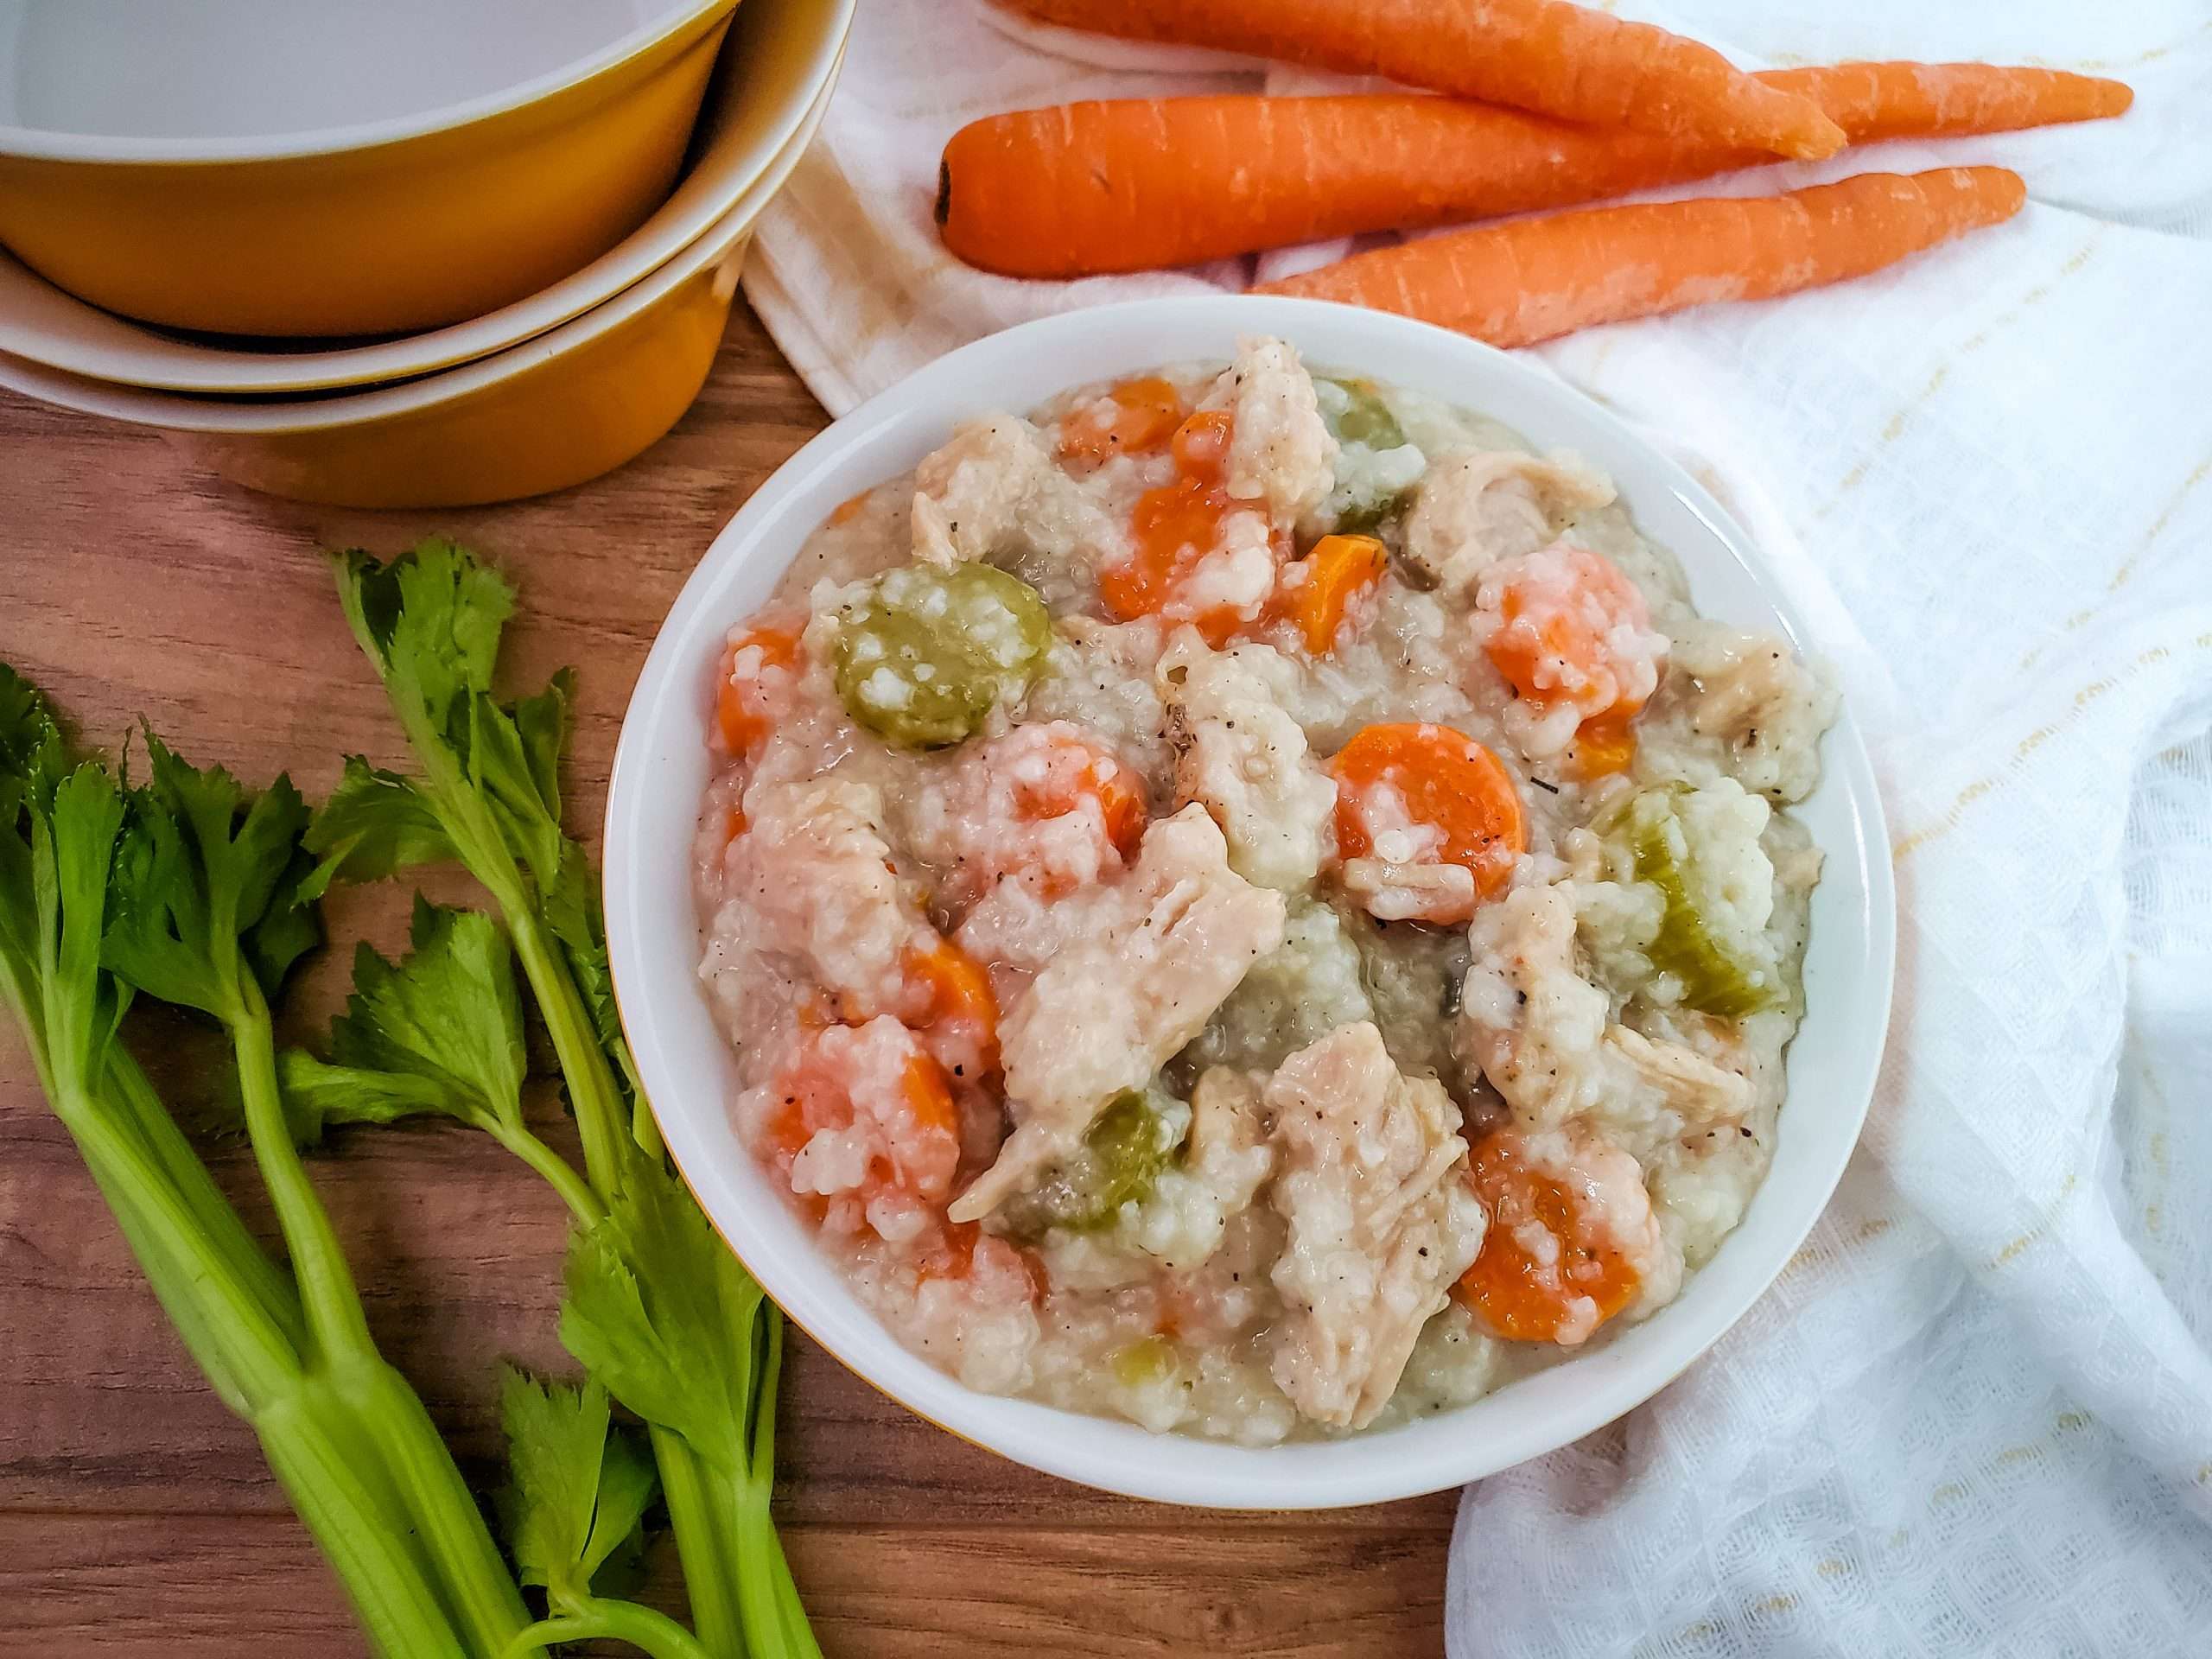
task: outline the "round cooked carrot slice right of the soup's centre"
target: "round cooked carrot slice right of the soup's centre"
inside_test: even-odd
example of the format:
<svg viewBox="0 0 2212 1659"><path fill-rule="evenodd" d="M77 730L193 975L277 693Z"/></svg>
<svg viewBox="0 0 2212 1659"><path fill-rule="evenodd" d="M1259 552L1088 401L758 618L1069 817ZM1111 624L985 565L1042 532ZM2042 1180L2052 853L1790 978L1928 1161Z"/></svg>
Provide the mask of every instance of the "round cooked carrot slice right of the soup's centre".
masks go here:
<svg viewBox="0 0 2212 1659"><path fill-rule="evenodd" d="M1329 772L1336 774L1340 858L1462 865L1475 876L1475 896L1489 898L1528 849L1513 774L1475 739L1449 726L1363 726L1329 761ZM1413 845L1378 852L1378 836L1402 836Z"/></svg>

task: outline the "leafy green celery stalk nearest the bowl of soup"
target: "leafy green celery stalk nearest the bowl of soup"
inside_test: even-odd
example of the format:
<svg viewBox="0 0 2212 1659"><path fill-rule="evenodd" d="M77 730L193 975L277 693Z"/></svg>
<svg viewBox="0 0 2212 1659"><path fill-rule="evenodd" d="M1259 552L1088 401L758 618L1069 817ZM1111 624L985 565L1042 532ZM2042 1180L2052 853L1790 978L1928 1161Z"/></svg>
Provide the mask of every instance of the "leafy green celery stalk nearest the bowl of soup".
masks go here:
<svg viewBox="0 0 2212 1659"><path fill-rule="evenodd" d="M648 1427L699 1646L717 1659L818 1655L768 1517L781 1316L664 1166L637 1091L613 1006L597 883L560 821L571 681L555 675L549 690L518 703L493 697L513 593L451 542L425 542L392 564L345 553L336 571L354 635L385 681L418 770L407 779L347 763L307 834L321 858L310 891L458 858L491 894L553 1040L584 1175L604 1208L595 1219L571 1201L580 1225L562 1338ZM420 1057L427 1035L400 1004L356 1004L374 1015L385 1044L374 1068L420 1075L403 1053ZM376 1044L358 1046L369 1053ZM312 1064L294 1075L307 1079ZM403 1088L420 1095L418 1084ZM325 1106L352 1115L336 1095ZM538 1635L580 1637L582 1617L555 1608L549 1624L560 1630L540 1626Z"/></svg>

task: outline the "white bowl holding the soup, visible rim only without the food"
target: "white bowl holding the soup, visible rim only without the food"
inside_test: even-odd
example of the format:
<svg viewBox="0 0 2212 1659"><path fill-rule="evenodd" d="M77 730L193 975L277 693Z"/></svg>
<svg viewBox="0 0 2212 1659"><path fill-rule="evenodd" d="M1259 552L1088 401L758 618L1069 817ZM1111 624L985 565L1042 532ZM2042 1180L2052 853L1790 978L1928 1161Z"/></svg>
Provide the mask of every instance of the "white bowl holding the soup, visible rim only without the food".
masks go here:
<svg viewBox="0 0 2212 1659"><path fill-rule="evenodd" d="M1504 352L1296 299L1157 299L1048 316L953 352L854 409L792 456L708 549L661 624L622 726L606 807L606 933L622 1024L684 1179L816 1343L931 1422L1033 1469L1181 1504L1325 1509L1440 1491L1590 1433L1657 1394L1752 1305L1805 1241L1858 1139L1889 1024L1896 898L1874 770L1845 712L1823 743L1820 787L1798 807L1827 872L1812 902L1807 1013L1790 1048L1794 1099L1774 1168L1679 1301L1584 1356L1398 1429L1252 1449L975 1394L900 1347L730 1126L737 1075L699 989L688 878L714 657L838 502L911 469L956 420L1029 409L1064 387L1159 363L1225 361L1239 334L1281 334L1318 367L1429 392L1540 447L1588 456L1644 533L1681 557L1699 611L1781 626L1803 648L1796 615L1712 495L1595 403Z"/></svg>

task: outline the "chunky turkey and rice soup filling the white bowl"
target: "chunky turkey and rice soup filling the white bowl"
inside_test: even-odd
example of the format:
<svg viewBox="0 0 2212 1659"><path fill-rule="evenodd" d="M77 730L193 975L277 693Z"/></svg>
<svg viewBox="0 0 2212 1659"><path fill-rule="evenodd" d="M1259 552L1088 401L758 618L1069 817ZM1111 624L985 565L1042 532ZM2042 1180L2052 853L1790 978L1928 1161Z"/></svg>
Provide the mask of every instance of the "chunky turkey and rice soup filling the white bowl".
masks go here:
<svg viewBox="0 0 2212 1659"><path fill-rule="evenodd" d="M1765 1175L1836 697L1573 453L1248 338L838 507L714 697L739 1135L969 1387L1442 1411Z"/></svg>

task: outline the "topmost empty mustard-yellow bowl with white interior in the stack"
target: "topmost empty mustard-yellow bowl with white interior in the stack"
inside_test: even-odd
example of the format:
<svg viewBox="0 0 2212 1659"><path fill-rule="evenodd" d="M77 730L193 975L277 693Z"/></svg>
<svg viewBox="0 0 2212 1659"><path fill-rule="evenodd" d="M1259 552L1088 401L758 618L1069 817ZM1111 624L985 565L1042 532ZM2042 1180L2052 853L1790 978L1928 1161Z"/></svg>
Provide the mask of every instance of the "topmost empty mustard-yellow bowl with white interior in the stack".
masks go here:
<svg viewBox="0 0 2212 1659"><path fill-rule="evenodd" d="M0 243L168 327L456 323L668 195L734 4L0 0Z"/></svg>

